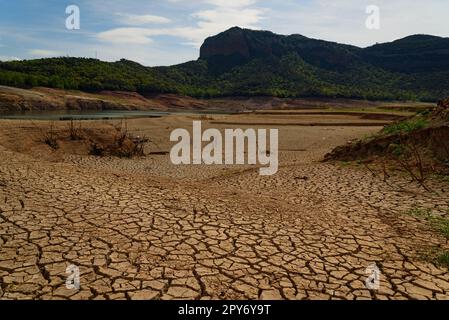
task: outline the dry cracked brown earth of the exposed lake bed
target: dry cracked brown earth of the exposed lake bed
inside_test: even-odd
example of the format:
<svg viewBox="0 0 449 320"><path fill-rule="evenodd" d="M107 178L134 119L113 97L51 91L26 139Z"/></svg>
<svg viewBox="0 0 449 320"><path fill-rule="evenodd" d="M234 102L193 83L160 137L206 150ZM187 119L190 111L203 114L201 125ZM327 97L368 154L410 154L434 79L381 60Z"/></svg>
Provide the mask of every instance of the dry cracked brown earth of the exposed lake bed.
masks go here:
<svg viewBox="0 0 449 320"><path fill-rule="evenodd" d="M23 131L1 127L3 140ZM0 298L449 299L447 268L420 258L447 239L404 214L418 204L447 215L447 184L429 197L400 191L413 189L406 179L319 163L373 129L334 130L283 128L272 177L168 156L47 161L0 146ZM301 143L308 150L287 148ZM373 263L379 290L365 285ZM79 290L65 285L72 264Z"/></svg>

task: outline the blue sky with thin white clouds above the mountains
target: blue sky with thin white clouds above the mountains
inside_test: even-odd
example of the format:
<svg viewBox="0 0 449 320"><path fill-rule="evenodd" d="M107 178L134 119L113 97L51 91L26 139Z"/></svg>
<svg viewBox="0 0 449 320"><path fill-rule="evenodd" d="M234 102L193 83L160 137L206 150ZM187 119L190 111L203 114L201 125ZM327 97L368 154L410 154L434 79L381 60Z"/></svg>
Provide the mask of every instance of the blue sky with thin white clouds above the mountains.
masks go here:
<svg viewBox="0 0 449 320"><path fill-rule="evenodd" d="M79 8L79 29L66 27L70 5ZM366 47L412 34L449 37L448 13L448 0L0 0L0 60L173 65L196 60L205 38L233 26ZM368 28L373 17L378 24Z"/></svg>

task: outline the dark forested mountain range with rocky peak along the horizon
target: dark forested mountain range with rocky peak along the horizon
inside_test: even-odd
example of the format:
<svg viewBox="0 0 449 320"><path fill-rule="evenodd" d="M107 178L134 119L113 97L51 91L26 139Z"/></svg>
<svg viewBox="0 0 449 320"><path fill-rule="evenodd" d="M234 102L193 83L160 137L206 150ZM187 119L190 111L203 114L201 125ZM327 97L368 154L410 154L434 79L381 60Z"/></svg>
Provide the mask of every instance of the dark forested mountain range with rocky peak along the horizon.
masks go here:
<svg viewBox="0 0 449 320"><path fill-rule="evenodd" d="M144 67L82 58L0 63L0 84L177 93L194 97L345 97L439 100L449 95L449 38L414 35L368 48L231 28L197 61Z"/></svg>

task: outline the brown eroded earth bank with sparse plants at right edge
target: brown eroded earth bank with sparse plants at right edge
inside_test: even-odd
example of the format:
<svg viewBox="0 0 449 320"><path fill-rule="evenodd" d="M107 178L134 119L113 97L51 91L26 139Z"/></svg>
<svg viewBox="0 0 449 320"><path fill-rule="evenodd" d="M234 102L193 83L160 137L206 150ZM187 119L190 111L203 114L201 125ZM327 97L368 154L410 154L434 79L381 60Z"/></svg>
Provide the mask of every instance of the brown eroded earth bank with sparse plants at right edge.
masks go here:
<svg viewBox="0 0 449 320"><path fill-rule="evenodd" d="M362 161L373 176L382 176L384 182L406 174L431 192L430 178L449 181L449 124L445 120L448 111L449 100L441 101L432 112L418 114L385 127L375 136L336 148L326 155L326 160Z"/></svg>

